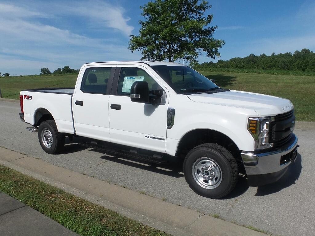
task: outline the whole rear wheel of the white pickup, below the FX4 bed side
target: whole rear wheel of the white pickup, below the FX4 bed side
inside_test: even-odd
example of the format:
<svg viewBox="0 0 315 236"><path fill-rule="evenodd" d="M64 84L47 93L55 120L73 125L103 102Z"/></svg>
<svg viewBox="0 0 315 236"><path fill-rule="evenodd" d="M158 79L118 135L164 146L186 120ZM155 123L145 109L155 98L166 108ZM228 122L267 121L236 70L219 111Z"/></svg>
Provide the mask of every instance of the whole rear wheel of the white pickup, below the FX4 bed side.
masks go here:
<svg viewBox="0 0 315 236"><path fill-rule="evenodd" d="M49 132L50 133L49 133ZM44 143L44 138L42 138L43 132L46 132L48 137L51 137L51 143ZM51 135L50 135L51 134ZM60 153L65 146L65 135L58 132L55 121L43 121L38 127L38 140L43 150L49 154ZM48 141L49 142L49 141Z"/></svg>

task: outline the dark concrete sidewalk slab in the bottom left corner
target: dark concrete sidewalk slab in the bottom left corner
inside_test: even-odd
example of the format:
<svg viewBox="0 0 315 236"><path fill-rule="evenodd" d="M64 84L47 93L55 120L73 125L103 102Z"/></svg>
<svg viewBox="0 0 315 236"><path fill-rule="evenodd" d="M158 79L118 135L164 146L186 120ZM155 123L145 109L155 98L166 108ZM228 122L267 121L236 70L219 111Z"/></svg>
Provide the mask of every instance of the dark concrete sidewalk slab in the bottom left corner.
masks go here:
<svg viewBox="0 0 315 236"><path fill-rule="evenodd" d="M0 192L0 232L5 236L75 236L54 220Z"/></svg>

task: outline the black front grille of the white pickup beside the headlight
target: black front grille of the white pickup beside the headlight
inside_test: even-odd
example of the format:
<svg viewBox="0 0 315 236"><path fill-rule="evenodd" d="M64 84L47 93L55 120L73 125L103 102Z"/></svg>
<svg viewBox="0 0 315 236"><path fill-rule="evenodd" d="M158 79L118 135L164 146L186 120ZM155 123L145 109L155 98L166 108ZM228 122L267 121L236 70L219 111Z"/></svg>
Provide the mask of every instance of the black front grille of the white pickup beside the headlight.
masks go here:
<svg viewBox="0 0 315 236"><path fill-rule="evenodd" d="M269 143L274 147L281 147L289 142L292 137L290 127L292 121L295 121L294 110L275 116L275 121L270 123Z"/></svg>

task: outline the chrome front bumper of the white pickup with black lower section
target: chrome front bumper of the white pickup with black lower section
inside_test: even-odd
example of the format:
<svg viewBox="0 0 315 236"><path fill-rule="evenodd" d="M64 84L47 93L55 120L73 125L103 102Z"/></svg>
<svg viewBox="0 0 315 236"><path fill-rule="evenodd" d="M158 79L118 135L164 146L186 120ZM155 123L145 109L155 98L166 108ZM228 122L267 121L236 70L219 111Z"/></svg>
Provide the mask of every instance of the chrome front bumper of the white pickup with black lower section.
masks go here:
<svg viewBox="0 0 315 236"><path fill-rule="evenodd" d="M288 144L265 153L241 152L250 186L265 185L276 182L295 161L297 155L297 137L292 134Z"/></svg>

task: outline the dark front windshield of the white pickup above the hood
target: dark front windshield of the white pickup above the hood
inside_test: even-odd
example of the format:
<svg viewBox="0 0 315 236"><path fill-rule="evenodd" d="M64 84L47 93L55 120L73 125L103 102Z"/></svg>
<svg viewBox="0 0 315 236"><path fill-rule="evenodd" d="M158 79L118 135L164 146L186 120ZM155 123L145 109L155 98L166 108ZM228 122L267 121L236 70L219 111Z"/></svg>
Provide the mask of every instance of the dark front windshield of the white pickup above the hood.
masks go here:
<svg viewBox="0 0 315 236"><path fill-rule="evenodd" d="M187 66L153 65L151 67L176 93L200 93L220 89L207 77Z"/></svg>

